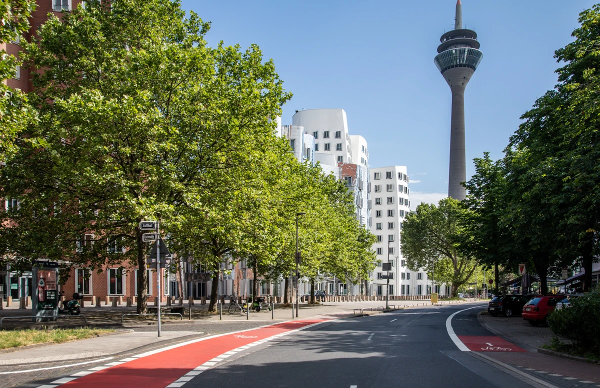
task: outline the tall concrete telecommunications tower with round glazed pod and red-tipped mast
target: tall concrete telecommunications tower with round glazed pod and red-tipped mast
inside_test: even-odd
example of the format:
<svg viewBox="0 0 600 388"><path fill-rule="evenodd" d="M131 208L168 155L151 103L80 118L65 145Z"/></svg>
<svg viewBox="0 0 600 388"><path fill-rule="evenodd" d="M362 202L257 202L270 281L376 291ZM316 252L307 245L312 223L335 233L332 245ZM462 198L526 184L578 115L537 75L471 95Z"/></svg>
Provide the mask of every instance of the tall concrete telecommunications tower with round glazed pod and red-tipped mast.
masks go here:
<svg viewBox="0 0 600 388"><path fill-rule="evenodd" d="M464 88L477 69L483 53L475 31L463 28L460 0L456 4L454 29L442 35L436 66L452 91L452 123L450 126L450 168L448 196L462 201L466 189L460 185L467 180L464 151Z"/></svg>

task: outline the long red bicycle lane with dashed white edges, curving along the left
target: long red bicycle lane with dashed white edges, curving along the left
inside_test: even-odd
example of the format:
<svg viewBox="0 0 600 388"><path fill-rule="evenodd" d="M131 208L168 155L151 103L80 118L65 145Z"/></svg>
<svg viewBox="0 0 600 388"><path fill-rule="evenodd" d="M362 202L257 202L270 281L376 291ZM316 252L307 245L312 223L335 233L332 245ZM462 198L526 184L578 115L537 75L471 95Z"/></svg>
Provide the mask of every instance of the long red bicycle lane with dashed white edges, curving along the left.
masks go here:
<svg viewBox="0 0 600 388"><path fill-rule="evenodd" d="M233 354L329 321L331 320L294 320L194 339L182 344L137 354L104 366L97 366L88 371L52 381L42 387L181 387L194 376Z"/></svg>

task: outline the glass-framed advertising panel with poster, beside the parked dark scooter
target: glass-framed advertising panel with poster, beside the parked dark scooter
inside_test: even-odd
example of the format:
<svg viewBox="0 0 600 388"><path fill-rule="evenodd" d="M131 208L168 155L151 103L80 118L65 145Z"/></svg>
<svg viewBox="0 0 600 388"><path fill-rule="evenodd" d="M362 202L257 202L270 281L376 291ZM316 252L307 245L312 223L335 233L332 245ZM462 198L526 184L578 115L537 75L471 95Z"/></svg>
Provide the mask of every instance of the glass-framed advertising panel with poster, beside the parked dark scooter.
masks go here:
<svg viewBox="0 0 600 388"><path fill-rule="evenodd" d="M58 315L58 263L44 262L34 263L33 280L34 290L32 308L34 322L47 322L56 320L51 318ZM46 318L47 317L47 318Z"/></svg>

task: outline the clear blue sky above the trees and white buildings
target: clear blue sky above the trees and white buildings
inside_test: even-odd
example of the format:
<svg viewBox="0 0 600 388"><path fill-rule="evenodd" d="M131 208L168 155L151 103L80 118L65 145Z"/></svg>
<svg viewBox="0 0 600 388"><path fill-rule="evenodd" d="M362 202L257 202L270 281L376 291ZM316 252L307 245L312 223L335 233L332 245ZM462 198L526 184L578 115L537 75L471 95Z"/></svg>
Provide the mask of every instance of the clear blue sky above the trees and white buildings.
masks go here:
<svg viewBox="0 0 600 388"><path fill-rule="evenodd" d="M433 63L455 0L181 0L211 22L215 46L257 44L295 110L343 108L369 166L407 166L411 207L448 195L451 92ZM571 43L591 0L462 0L484 57L465 93L467 179L473 158L503 156L520 116L557 83L554 50Z"/></svg>

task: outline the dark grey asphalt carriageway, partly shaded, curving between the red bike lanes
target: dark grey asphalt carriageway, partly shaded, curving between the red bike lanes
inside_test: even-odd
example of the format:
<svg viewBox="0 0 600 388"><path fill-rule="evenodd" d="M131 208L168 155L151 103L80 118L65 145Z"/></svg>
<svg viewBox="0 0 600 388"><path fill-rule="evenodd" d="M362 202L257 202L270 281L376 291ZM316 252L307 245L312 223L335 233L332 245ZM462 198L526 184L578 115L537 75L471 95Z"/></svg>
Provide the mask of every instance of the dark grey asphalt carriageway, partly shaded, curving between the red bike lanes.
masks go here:
<svg viewBox="0 0 600 388"><path fill-rule="evenodd" d="M457 349L446 319L463 309L410 309L324 323L232 357L185 387L530 387ZM476 320L479 310L454 317L457 335L490 335Z"/></svg>

